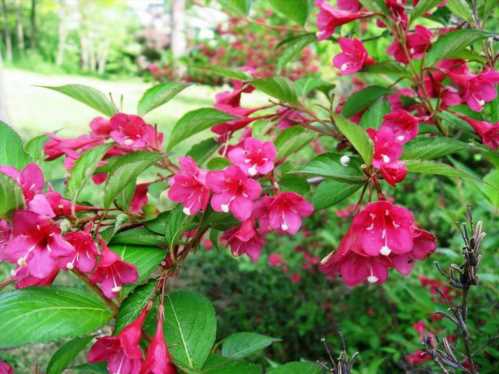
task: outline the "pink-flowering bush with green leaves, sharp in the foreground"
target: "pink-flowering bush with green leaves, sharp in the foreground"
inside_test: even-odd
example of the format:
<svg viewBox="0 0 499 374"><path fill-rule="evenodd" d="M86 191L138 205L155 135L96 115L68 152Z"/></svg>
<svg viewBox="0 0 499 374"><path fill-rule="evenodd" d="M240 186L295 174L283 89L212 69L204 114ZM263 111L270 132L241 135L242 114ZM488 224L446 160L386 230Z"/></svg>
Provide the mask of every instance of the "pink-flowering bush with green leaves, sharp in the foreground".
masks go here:
<svg viewBox="0 0 499 374"><path fill-rule="evenodd" d="M305 24L307 1L293 2L296 9L272 3ZM393 270L408 276L417 261L437 250L438 237L390 196L409 174L469 180L497 201L497 189L488 187L497 172L483 183L450 157L465 150L497 162L499 73L492 35L482 29L476 9L466 6L449 6L465 21L455 29L413 27L431 18L437 5L354 0L335 8L316 1L313 42L337 40L341 52L332 66L341 76L362 77L355 76L355 92L348 95L337 95L317 77L293 82L218 68L213 72L232 79L232 88L216 95L213 108L185 114L165 134L145 118L186 84L150 88L138 115L122 113L90 87L51 87L104 115L77 138L48 134L23 146L2 125L0 260L10 264L11 275L0 287L17 289L0 295L0 348L74 338L54 354L49 373L61 372L88 346L83 370L105 363L110 373L258 373L260 367L242 359L274 339L236 333L215 344L213 306L195 293L169 290L171 279L208 239L257 261L269 235L293 236L307 217L352 195L355 204L340 213L352 217L350 227L320 261L320 270L348 287L380 285ZM371 57L360 39L335 38L343 27L370 20L387 31L382 31L390 39L386 60ZM288 61L312 42L310 34L307 43L302 37L285 42L294 51L283 52ZM373 84L377 80L385 84ZM269 96L268 103L244 106L242 96L256 92ZM204 140L186 149L195 135ZM45 181L56 160L67 172L63 183ZM468 247L478 248L478 237ZM461 269L466 294L476 281L468 273L479 260L478 249L470 251L470 265ZM303 253L307 266L318 265L318 258ZM279 253L268 262L286 266ZM84 288L53 286L64 275ZM299 274L290 278L300 282ZM425 282L432 290L440 287ZM465 319L466 302L462 308L454 318ZM111 321L112 328L104 328ZM424 326L416 330L436 349ZM439 356L426 350L408 362L430 357ZM477 372L469 350L465 359L466 364L457 359L453 364ZM268 372L292 370L321 368L296 362Z"/></svg>

